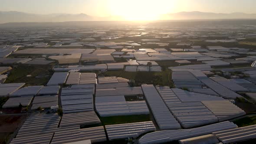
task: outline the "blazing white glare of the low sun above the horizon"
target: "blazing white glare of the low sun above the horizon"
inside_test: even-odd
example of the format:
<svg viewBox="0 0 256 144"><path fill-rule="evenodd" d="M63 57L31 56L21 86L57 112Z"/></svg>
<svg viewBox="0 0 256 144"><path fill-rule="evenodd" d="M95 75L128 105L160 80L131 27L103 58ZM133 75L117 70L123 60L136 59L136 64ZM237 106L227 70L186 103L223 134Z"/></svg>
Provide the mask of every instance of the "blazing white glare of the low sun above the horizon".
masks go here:
<svg viewBox="0 0 256 144"><path fill-rule="evenodd" d="M162 1L162 2L161 2ZM110 0L109 9L113 16L125 20L145 21L159 20L161 14L168 13L172 0Z"/></svg>

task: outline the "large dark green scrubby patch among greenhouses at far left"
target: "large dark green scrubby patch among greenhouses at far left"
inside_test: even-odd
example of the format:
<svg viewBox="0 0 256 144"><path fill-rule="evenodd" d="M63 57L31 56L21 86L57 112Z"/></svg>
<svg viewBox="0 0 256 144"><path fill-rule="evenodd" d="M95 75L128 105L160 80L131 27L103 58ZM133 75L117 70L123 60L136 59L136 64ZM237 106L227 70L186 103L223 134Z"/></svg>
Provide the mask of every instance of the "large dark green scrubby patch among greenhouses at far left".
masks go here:
<svg viewBox="0 0 256 144"><path fill-rule="evenodd" d="M27 77L27 75L31 75ZM29 85L46 85L53 75L51 65L15 65L5 83L25 82Z"/></svg>

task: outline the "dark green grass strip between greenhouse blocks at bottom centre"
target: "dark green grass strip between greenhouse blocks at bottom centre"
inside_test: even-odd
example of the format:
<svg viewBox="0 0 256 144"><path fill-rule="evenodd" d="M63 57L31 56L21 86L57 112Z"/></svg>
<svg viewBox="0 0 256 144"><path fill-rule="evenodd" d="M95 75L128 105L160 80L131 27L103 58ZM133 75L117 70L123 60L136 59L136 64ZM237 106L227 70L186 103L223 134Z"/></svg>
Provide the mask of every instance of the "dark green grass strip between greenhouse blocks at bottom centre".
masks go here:
<svg viewBox="0 0 256 144"><path fill-rule="evenodd" d="M122 115L112 117L101 117L100 120L102 121L103 125L151 121L150 115Z"/></svg>

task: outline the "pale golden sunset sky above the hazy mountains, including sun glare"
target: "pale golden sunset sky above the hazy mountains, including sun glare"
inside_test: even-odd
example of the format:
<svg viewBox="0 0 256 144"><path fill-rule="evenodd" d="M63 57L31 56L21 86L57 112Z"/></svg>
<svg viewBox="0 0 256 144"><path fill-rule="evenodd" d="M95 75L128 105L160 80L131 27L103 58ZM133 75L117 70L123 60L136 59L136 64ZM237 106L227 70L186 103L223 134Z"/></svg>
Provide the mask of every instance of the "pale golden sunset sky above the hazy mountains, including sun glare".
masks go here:
<svg viewBox="0 0 256 144"><path fill-rule="evenodd" d="M156 20L160 14L182 11L256 13L256 0L0 0L0 11L25 13L86 13Z"/></svg>

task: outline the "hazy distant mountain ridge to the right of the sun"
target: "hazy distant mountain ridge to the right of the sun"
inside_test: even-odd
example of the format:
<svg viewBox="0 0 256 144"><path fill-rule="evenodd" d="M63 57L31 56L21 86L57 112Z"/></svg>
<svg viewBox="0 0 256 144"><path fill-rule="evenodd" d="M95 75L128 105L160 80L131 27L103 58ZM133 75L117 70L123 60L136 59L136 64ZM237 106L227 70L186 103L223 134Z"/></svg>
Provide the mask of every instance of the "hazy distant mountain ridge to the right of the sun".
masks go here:
<svg viewBox="0 0 256 144"><path fill-rule="evenodd" d="M256 14L247 13L203 13L199 11L161 15L161 20L211 20L211 19L256 19Z"/></svg>

